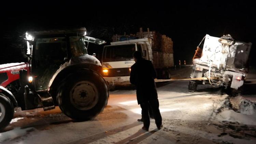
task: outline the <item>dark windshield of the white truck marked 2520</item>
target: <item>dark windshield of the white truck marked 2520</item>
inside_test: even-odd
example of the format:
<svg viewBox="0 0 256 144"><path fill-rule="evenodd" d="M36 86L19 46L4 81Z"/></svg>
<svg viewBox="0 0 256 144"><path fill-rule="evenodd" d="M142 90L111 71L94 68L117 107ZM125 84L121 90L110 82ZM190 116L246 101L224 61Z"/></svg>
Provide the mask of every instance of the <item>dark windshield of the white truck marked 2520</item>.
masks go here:
<svg viewBox="0 0 256 144"><path fill-rule="evenodd" d="M133 60L135 44L106 46L103 51L103 62Z"/></svg>

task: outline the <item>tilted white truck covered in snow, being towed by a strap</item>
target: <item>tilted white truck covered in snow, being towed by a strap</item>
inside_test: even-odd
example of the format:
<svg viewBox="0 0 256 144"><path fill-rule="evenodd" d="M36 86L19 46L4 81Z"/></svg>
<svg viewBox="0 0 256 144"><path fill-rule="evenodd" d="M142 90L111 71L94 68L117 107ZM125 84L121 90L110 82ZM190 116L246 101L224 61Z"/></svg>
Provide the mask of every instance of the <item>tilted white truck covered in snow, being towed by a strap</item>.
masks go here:
<svg viewBox="0 0 256 144"><path fill-rule="evenodd" d="M252 43L236 41L229 34L221 38L205 35L193 57L190 78L195 80L189 81L188 90L196 91L198 84L233 89L241 87L248 74L251 46Z"/></svg>

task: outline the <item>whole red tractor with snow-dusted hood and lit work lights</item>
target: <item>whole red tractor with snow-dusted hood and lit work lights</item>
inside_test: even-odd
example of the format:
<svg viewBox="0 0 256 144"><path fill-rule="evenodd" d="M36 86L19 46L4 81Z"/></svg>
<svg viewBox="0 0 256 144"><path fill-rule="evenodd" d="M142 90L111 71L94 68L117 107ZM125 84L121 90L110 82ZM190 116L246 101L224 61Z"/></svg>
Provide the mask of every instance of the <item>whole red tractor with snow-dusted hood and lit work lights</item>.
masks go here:
<svg viewBox="0 0 256 144"><path fill-rule="evenodd" d="M105 41L85 35L85 28L26 33L28 62L0 65L0 130L17 107L46 111L59 106L79 121L103 111L109 89L100 61L88 55L86 44Z"/></svg>

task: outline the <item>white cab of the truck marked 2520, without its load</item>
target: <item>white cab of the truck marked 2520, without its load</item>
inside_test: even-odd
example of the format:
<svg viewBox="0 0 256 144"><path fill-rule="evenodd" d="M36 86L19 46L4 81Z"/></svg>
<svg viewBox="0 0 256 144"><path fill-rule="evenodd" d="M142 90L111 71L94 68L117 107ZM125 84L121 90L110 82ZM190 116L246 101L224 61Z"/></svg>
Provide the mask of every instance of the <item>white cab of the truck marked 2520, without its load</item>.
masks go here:
<svg viewBox="0 0 256 144"><path fill-rule="evenodd" d="M140 51L143 58L152 60L151 39L112 42L104 46L102 68L104 79L112 85L130 84L130 67L135 63L132 54Z"/></svg>

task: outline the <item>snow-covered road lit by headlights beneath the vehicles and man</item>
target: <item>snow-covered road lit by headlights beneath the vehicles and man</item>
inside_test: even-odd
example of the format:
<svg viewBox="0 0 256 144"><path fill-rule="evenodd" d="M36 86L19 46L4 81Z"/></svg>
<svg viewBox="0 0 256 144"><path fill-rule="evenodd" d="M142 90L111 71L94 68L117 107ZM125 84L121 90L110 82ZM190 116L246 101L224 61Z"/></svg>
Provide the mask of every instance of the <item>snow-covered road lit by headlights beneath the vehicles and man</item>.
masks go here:
<svg viewBox="0 0 256 144"><path fill-rule="evenodd" d="M175 81L157 88L163 119L161 130L157 130L154 119L149 132L141 130L143 123L137 121L141 118L141 109L136 91L116 90L110 92L103 113L90 121L73 121L58 107L46 112L37 109L16 113L10 126L0 133L0 143L256 143L253 133L246 138L224 133L232 133L225 129L226 125L243 124L217 119L228 97L221 95L219 88L199 86L197 92L190 93L187 84L187 81Z"/></svg>

